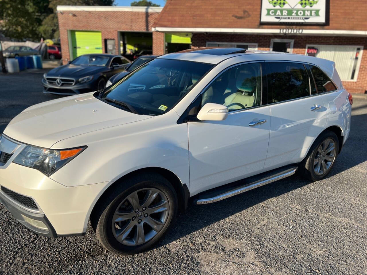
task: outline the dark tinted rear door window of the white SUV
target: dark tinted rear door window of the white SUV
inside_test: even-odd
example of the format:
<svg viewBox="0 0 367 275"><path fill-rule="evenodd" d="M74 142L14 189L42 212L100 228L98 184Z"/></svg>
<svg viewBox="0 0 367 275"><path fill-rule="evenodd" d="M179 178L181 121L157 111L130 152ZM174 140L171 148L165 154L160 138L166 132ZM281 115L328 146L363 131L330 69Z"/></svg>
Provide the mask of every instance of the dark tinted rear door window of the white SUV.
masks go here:
<svg viewBox="0 0 367 275"><path fill-rule="evenodd" d="M301 63L267 62L269 68L269 103L310 95L305 66Z"/></svg>

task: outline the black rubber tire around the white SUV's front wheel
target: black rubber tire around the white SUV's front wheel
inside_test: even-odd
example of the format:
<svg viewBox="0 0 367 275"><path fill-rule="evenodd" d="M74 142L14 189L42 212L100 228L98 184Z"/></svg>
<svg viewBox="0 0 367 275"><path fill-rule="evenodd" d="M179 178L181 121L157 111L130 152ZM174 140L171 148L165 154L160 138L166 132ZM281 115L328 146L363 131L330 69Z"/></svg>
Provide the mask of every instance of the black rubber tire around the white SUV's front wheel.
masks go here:
<svg viewBox="0 0 367 275"><path fill-rule="evenodd" d="M157 232L149 241L140 245L125 245L117 241L117 237L114 235L112 229L112 218L116 214L116 210L120 209L119 207L121 203L124 202L130 194L143 188L154 188L155 190L159 190L164 193L168 199L169 205L166 222L160 231ZM152 247L167 232L172 220L174 220L177 214L177 205L177 194L166 178L154 173L135 175L128 177L119 184L116 184L116 186L113 186L102 196L101 199L99 199L99 202L91 214L91 224L97 239L101 242L102 246L110 252L121 255L141 253ZM137 212L137 217L140 212L140 210ZM137 222L137 219L138 218L134 219L135 223ZM128 222L133 223L132 219ZM144 225L144 221L141 223ZM134 228L137 230L138 225Z"/></svg>

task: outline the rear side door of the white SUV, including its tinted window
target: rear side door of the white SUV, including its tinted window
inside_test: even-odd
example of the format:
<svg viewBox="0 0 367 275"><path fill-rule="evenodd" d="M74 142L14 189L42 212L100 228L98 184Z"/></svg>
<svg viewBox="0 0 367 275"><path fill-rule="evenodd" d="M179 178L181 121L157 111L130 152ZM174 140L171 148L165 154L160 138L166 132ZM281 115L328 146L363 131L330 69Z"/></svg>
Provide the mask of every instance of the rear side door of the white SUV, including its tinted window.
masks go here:
<svg viewBox="0 0 367 275"><path fill-rule="evenodd" d="M270 170L302 160L326 124L327 109L316 92L307 64L265 63L271 118L264 168Z"/></svg>

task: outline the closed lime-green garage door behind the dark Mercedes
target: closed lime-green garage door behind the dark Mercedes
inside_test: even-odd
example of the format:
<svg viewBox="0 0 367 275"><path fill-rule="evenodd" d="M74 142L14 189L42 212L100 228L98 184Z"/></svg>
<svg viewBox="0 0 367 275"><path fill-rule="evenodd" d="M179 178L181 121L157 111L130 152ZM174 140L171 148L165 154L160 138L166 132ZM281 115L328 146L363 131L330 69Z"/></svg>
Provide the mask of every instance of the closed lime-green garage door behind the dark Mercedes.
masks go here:
<svg viewBox="0 0 367 275"><path fill-rule="evenodd" d="M83 54L102 54L101 32L71 31L73 58Z"/></svg>

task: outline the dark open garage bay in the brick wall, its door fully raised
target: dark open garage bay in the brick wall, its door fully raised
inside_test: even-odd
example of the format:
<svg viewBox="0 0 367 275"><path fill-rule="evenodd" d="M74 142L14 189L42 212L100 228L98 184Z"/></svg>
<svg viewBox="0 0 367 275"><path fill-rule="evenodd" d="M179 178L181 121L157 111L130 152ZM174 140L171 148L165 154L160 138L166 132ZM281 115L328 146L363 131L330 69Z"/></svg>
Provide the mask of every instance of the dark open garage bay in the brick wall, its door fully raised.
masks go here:
<svg viewBox="0 0 367 275"><path fill-rule="evenodd" d="M133 61L141 55L153 54L151 32L120 32L120 52Z"/></svg>

